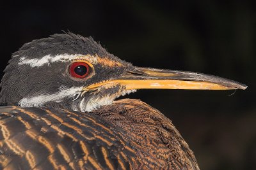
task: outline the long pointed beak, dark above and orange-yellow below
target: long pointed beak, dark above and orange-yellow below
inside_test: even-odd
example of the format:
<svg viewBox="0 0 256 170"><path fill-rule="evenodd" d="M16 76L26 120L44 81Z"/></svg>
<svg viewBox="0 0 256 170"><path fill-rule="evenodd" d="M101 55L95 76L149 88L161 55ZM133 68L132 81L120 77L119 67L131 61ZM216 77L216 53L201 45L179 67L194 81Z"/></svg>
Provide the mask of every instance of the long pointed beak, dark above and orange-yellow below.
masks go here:
<svg viewBox="0 0 256 170"><path fill-rule="evenodd" d="M95 89L107 83L119 83L126 90L132 89L188 89L188 90L232 90L246 89L247 86L226 78L188 71L173 71L135 67L118 80L109 80L86 87Z"/></svg>

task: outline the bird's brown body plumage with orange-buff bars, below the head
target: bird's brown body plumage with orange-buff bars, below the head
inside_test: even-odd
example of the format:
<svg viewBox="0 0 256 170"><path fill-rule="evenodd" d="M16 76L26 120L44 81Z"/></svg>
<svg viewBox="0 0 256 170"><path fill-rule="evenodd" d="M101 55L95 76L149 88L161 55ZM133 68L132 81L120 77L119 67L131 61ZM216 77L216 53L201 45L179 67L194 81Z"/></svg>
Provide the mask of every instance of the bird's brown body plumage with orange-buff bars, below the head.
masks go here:
<svg viewBox="0 0 256 170"><path fill-rule="evenodd" d="M199 169L172 122L147 104L116 101L91 113L0 108L6 169Z"/></svg>

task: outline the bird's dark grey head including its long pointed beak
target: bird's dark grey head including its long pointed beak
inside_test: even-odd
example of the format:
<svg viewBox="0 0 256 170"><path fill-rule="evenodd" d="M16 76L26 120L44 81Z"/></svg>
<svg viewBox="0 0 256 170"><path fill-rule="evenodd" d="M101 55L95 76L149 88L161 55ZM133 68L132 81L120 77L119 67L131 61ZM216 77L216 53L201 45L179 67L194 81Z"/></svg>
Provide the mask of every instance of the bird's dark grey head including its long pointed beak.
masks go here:
<svg viewBox="0 0 256 170"><path fill-rule="evenodd" d="M137 89L246 89L207 74L135 67L92 38L71 32L26 43L13 53L4 72L1 104L83 112Z"/></svg>

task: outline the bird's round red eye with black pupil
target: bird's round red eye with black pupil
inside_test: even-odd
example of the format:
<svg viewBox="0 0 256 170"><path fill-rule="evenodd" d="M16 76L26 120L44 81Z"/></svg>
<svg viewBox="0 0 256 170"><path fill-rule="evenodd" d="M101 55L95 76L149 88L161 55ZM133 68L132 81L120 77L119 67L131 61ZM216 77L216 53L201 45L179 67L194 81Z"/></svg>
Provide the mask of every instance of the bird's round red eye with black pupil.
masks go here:
<svg viewBox="0 0 256 170"><path fill-rule="evenodd" d="M76 78L85 78L89 74L89 66L85 62L74 62L69 67L69 73Z"/></svg>

